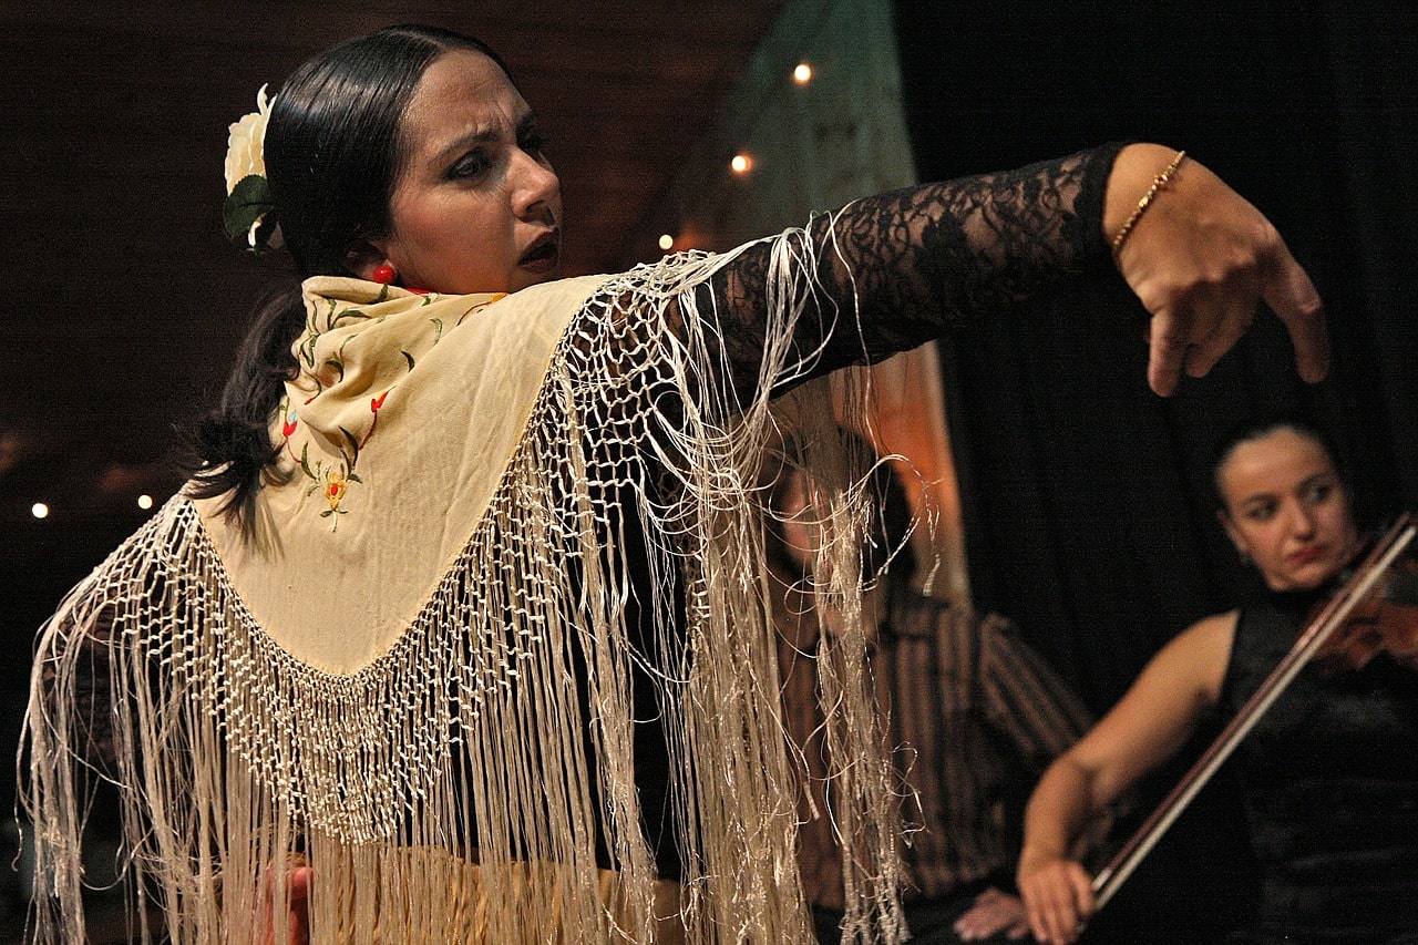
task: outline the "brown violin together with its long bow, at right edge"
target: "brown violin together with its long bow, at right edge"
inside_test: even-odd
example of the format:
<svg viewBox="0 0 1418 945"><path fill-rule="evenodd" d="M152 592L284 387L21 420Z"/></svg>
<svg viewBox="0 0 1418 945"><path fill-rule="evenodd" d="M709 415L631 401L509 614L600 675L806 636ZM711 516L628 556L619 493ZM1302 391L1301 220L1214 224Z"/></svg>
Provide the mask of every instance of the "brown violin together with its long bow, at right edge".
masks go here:
<svg viewBox="0 0 1418 945"><path fill-rule="evenodd" d="M1093 877L1098 908L1103 908L1117 892L1197 792L1310 661L1317 660L1317 667L1336 673L1360 670L1380 653L1388 653L1418 668L1418 558L1405 555L1415 534L1418 524L1414 516L1401 515L1339 592L1310 614L1295 646L1255 695L1246 700L1137 833Z"/></svg>

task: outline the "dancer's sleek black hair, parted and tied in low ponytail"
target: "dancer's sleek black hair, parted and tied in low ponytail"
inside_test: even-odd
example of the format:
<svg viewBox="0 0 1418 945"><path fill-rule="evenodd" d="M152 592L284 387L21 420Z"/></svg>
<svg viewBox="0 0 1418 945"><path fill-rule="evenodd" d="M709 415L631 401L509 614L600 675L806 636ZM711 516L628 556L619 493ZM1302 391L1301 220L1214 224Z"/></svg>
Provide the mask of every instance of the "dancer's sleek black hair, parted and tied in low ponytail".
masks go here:
<svg viewBox="0 0 1418 945"><path fill-rule="evenodd" d="M407 156L400 119L424 71L452 50L482 52L510 81L502 58L479 40L403 24L316 55L277 92L264 145L271 217L299 278L350 275L350 251L389 236L390 200ZM274 481L279 448L271 414L296 376L291 343L303 324L299 289L258 306L218 406L184 430L194 454L193 494L225 495L223 514L247 528L257 490Z"/></svg>

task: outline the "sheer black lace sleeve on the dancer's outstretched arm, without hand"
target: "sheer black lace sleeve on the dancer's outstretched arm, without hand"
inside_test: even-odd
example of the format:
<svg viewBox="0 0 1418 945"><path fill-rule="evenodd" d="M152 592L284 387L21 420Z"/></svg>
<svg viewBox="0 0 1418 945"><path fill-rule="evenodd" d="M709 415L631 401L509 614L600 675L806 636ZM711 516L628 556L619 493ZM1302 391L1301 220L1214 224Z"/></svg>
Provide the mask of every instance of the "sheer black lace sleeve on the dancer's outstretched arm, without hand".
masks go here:
<svg viewBox="0 0 1418 945"><path fill-rule="evenodd" d="M821 348L821 356L805 373L791 372L794 380L915 348L1100 267L1109 260L1103 196L1120 149L1105 145L1012 172L883 193L815 217L805 238L831 301L797 329L798 349ZM754 244L713 281L740 392L759 383L771 253L771 241ZM858 318L851 316L854 298Z"/></svg>

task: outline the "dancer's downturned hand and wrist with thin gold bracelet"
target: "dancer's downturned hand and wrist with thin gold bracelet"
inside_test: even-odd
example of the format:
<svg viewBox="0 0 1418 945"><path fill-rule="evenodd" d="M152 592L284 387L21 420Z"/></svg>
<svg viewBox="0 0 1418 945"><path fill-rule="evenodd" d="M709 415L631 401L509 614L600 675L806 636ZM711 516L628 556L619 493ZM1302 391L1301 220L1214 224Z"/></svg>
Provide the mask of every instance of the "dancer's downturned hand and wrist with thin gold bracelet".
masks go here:
<svg viewBox="0 0 1418 945"><path fill-rule="evenodd" d="M1129 145L1107 180L1103 234L1112 243L1153 179L1176 156ZM1127 284L1151 312L1147 382L1159 394L1181 370L1205 375L1245 333L1265 301L1295 343L1300 377L1329 370L1319 292L1271 221L1190 156L1137 220L1117 254Z"/></svg>

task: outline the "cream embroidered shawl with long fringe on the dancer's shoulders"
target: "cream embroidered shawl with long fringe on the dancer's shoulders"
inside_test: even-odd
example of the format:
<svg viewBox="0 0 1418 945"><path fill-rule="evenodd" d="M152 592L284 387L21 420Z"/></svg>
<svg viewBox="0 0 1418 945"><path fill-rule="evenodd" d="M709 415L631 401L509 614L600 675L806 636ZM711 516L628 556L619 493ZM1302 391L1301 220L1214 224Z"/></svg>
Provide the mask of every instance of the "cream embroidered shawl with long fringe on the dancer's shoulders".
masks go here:
<svg viewBox="0 0 1418 945"><path fill-rule="evenodd" d="M811 368L791 339L805 306L831 312L813 250L800 231L774 247L760 392ZM119 788L136 912L159 908L174 941L259 941L303 860L316 942L807 941L764 593L760 468L784 416L832 497L820 593L858 614L868 497L822 382L736 402L719 312L693 292L727 258L510 297L309 281L302 375L272 424L288 478L261 490L254 535L177 495L41 637L38 938L82 939L98 775ZM893 939L865 640L821 650L830 758L849 763L815 813L852 866L848 941ZM111 722L89 718L94 692ZM635 788L648 722L679 885L657 877L661 824Z"/></svg>

